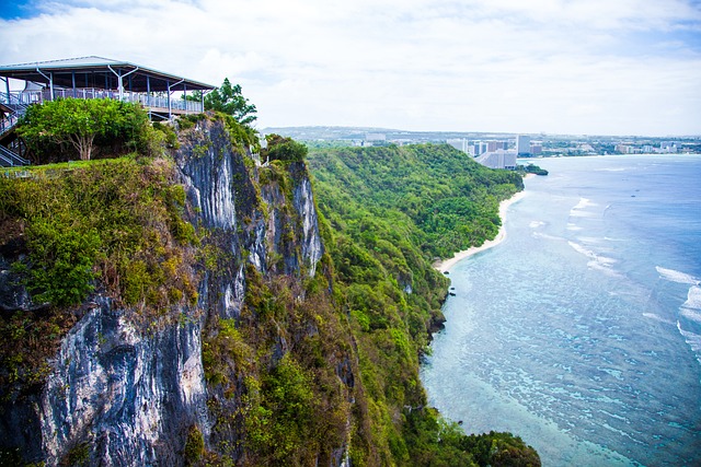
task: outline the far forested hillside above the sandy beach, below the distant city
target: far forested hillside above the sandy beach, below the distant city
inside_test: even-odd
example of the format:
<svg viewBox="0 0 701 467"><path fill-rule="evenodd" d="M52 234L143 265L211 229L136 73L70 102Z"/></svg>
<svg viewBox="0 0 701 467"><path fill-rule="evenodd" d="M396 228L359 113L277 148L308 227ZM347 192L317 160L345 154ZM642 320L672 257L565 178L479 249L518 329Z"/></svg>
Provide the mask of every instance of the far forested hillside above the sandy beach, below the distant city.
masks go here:
<svg viewBox="0 0 701 467"><path fill-rule="evenodd" d="M425 257L449 257L496 235L498 202L522 189L518 174L486 168L448 145L318 150L309 164L334 226L350 217L347 227L370 249L380 232L401 233Z"/></svg>

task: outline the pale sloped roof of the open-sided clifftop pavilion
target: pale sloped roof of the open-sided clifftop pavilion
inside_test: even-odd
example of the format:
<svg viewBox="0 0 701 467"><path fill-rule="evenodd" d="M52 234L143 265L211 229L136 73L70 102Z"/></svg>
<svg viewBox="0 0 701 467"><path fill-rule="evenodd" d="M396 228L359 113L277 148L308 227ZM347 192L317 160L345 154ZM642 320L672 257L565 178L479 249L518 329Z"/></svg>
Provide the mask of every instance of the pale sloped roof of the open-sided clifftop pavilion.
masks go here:
<svg viewBox="0 0 701 467"><path fill-rule="evenodd" d="M55 86L68 89L73 85L117 89L118 77L124 77L124 87L134 92L168 91L169 86L170 91L209 91L216 87L128 61L95 56L0 66L0 77L48 84L49 75L53 75Z"/></svg>

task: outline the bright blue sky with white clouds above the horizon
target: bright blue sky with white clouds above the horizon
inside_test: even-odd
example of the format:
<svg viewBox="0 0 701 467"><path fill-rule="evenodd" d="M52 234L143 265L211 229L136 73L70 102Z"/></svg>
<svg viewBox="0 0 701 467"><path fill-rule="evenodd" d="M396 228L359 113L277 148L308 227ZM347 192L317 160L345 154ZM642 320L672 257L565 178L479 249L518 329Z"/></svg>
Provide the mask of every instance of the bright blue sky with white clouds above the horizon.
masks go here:
<svg viewBox="0 0 701 467"><path fill-rule="evenodd" d="M0 44L229 78L260 129L701 135L701 0L0 0Z"/></svg>

